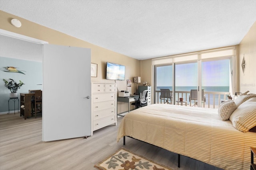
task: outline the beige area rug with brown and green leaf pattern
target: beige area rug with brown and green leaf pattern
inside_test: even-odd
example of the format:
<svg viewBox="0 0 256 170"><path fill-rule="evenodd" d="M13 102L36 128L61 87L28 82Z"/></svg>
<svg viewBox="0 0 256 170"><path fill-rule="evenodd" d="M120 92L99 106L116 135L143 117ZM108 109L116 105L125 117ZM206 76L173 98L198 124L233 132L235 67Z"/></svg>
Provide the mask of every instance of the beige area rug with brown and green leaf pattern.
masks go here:
<svg viewBox="0 0 256 170"><path fill-rule="evenodd" d="M123 147L94 167L98 170L173 170Z"/></svg>

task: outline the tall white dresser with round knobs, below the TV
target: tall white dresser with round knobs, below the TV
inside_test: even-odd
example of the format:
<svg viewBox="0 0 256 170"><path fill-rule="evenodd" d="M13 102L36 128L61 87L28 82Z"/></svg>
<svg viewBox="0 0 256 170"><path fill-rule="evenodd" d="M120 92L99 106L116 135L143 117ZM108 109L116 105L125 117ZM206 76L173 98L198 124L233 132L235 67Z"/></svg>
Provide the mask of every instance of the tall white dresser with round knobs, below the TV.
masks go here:
<svg viewBox="0 0 256 170"><path fill-rule="evenodd" d="M92 83L92 131L115 123L116 83Z"/></svg>

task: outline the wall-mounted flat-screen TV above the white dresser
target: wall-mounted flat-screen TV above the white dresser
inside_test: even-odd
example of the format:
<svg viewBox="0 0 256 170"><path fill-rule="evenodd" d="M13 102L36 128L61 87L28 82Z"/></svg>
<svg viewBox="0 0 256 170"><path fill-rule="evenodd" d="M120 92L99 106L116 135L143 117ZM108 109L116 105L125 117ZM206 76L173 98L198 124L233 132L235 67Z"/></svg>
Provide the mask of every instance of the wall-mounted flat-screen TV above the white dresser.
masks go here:
<svg viewBox="0 0 256 170"><path fill-rule="evenodd" d="M108 80L124 80L125 66L107 62L106 72L106 79Z"/></svg>

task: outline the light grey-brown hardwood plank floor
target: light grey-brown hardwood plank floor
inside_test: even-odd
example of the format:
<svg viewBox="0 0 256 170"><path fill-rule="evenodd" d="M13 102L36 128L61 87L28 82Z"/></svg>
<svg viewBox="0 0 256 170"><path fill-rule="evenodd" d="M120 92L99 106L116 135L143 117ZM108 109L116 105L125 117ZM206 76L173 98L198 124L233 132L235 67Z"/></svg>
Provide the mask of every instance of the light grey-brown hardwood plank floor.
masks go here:
<svg viewBox="0 0 256 170"><path fill-rule="evenodd" d="M118 124L122 117L118 118ZM118 126L94 131L87 139L42 142L42 117L24 120L19 113L0 115L0 170L96 170L94 164L120 147L176 170L220 170L203 162L126 137L116 143Z"/></svg>

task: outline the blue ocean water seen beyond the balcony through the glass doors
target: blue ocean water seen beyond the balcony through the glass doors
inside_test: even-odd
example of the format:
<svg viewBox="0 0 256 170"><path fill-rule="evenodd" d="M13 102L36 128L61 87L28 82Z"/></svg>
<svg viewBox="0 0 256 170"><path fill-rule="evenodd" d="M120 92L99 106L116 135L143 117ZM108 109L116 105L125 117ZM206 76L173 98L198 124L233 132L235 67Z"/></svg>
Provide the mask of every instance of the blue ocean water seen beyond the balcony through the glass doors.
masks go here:
<svg viewBox="0 0 256 170"><path fill-rule="evenodd" d="M160 88L167 88L172 91L172 86L157 86L156 90L160 91ZM190 92L191 89L198 89L198 86L176 86L176 91L188 91ZM204 92L229 92L229 86L202 86L202 89L204 89ZM189 94L187 94L189 95ZM206 96L206 104L208 104L208 95ZM183 97L185 98L185 97ZM218 96L215 95L215 105L218 105ZM220 95L220 99L224 99L224 95ZM178 100L178 96L176 96L176 99ZM187 96L188 100L188 96ZM213 96L210 95L210 105L213 105Z"/></svg>

